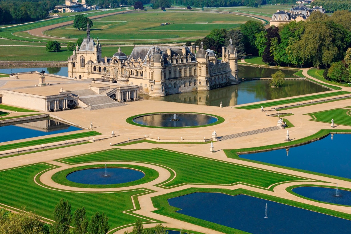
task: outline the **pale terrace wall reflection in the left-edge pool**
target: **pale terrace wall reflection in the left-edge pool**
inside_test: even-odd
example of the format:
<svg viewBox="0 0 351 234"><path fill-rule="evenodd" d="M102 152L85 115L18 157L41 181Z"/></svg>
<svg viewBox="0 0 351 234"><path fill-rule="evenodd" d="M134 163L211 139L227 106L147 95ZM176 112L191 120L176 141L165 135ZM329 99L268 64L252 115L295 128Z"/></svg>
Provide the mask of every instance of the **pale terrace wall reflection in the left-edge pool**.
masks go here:
<svg viewBox="0 0 351 234"><path fill-rule="evenodd" d="M16 124L15 126L37 130L40 132L53 132L58 130L65 130L70 127L66 123L62 123L60 121L52 120L52 119L38 120L34 122L21 121L19 124Z"/></svg>

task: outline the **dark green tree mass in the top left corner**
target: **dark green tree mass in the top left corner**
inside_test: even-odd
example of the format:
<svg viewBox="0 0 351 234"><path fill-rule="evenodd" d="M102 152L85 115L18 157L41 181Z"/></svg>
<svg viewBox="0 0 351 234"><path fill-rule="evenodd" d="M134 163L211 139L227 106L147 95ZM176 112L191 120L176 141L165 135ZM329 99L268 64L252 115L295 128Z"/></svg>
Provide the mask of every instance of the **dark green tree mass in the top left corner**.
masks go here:
<svg viewBox="0 0 351 234"><path fill-rule="evenodd" d="M57 5L58 1L14 1L0 2L0 24L12 22L29 22L44 19L50 8Z"/></svg>

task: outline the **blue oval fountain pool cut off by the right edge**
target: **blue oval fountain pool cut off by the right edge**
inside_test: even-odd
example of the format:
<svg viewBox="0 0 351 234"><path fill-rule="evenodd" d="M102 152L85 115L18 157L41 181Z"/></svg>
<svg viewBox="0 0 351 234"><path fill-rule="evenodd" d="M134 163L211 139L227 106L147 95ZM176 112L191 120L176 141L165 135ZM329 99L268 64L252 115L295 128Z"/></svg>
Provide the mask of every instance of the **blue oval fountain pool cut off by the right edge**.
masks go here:
<svg viewBox="0 0 351 234"><path fill-rule="evenodd" d="M293 188L292 192L317 201L351 206L351 191L343 189L303 186Z"/></svg>

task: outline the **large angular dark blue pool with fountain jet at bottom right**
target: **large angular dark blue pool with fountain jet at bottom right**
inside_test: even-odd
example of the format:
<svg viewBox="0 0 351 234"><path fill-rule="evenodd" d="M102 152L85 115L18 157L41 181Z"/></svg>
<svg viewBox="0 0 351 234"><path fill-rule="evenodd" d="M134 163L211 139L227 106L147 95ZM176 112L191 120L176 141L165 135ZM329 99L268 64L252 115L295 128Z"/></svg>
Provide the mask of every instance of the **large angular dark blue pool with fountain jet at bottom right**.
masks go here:
<svg viewBox="0 0 351 234"><path fill-rule="evenodd" d="M178 213L249 233L351 233L350 220L243 194L198 192L168 203L181 208Z"/></svg>

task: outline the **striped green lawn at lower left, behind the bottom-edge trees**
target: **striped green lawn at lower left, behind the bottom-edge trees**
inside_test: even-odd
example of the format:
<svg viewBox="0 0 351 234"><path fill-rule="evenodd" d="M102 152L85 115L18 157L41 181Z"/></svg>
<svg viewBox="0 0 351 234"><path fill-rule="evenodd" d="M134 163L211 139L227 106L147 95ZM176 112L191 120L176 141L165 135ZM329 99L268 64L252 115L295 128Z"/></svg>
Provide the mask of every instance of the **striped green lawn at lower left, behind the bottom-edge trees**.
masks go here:
<svg viewBox="0 0 351 234"><path fill-rule="evenodd" d="M135 221L132 215L121 213L132 209L132 195L144 190L120 193L71 193L41 187L34 182L34 176L50 165L43 163L0 172L0 203L27 210L35 210L39 215L53 219L53 209L60 198L72 204L72 211L84 206L90 218L95 212L104 212L109 218L110 228L127 225ZM14 199L15 198L15 199Z"/></svg>

